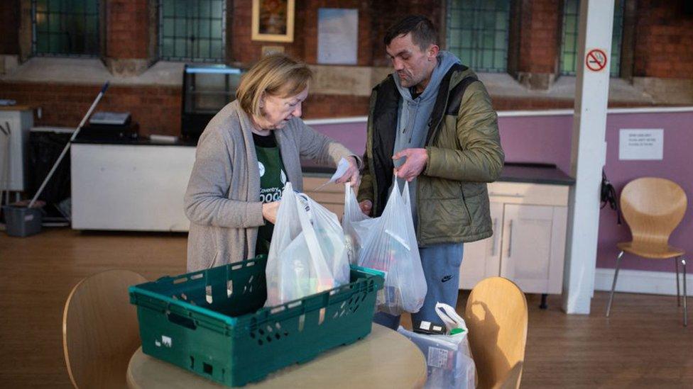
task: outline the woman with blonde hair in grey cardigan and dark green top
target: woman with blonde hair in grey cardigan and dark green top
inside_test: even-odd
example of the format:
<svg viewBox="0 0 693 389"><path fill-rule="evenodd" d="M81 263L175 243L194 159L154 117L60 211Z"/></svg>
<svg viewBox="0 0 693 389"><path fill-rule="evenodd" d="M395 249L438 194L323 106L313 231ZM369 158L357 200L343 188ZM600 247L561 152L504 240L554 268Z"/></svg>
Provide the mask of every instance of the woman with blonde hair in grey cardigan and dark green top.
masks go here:
<svg viewBox="0 0 693 389"><path fill-rule="evenodd" d="M302 191L300 157L335 167L344 157L337 183L359 181L354 154L300 119L310 77L285 55L263 57L209 121L185 193L188 271L267 254L284 184Z"/></svg>

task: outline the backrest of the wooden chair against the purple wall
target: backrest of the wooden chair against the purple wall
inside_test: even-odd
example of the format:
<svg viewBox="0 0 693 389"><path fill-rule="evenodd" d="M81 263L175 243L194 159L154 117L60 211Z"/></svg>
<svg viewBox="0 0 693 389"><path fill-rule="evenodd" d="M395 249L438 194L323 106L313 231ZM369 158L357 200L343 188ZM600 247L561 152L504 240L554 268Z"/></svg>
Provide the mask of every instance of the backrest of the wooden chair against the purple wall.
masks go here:
<svg viewBox="0 0 693 389"><path fill-rule="evenodd" d="M686 193L674 181L643 177L626 184L621 191L621 212L631 227L633 246L666 249L687 203Z"/></svg>

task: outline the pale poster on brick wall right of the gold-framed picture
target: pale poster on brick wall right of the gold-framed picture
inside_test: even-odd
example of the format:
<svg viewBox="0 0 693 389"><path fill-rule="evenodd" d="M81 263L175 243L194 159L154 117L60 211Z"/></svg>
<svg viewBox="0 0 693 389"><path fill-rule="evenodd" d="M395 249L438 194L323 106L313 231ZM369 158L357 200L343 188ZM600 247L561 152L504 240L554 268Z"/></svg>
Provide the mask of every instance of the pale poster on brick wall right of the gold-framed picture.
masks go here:
<svg viewBox="0 0 693 389"><path fill-rule="evenodd" d="M321 8L317 12L317 63L356 64L359 10Z"/></svg>

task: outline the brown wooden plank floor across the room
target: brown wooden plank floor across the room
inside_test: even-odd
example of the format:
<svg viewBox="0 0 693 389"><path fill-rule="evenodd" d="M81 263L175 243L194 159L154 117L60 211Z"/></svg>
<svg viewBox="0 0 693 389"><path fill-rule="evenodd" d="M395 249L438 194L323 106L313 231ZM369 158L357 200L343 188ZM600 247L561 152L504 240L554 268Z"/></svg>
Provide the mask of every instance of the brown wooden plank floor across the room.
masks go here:
<svg viewBox="0 0 693 389"><path fill-rule="evenodd" d="M185 244L180 234L0 232L0 388L70 388L61 323L72 286L114 268L149 279L181 274ZM684 328L675 298L618 294L607 320L607 298L595 293L592 314L581 316L564 315L559 296L548 310L528 296L523 387L693 388L693 316Z"/></svg>

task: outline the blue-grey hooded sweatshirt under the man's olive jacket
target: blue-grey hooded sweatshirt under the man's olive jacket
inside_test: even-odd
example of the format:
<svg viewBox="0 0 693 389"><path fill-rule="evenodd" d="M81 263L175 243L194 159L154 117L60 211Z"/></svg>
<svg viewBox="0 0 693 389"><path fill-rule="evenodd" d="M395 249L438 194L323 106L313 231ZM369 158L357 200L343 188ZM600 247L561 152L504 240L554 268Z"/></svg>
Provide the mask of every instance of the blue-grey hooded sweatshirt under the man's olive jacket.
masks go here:
<svg viewBox="0 0 693 389"><path fill-rule="evenodd" d="M438 94L438 87L447 71L452 65L459 63L459 59L452 52L441 50L437 56L438 64L433 69L431 79L424 89L423 93L412 98L411 92L414 87L405 88L400 84L400 78L393 74L395 84L400 92L400 103L397 110L397 135L395 135L395 148L393 154L396 154L405 149L424 147L426 135L428 133L428 121L430 120L435 98ZM395 160L395 167L400 167L405 162L405 158ZM399 182L400 191L404 188L404 180L397 179L394 182ZM392 190L392 188L390 188ZM416 179L409 183L410 205L412 208L412 216L414 225L416 225Z"/></svg>

